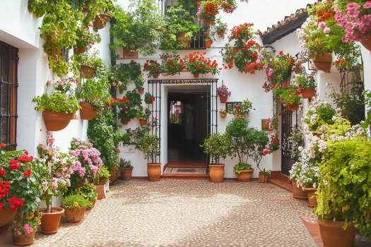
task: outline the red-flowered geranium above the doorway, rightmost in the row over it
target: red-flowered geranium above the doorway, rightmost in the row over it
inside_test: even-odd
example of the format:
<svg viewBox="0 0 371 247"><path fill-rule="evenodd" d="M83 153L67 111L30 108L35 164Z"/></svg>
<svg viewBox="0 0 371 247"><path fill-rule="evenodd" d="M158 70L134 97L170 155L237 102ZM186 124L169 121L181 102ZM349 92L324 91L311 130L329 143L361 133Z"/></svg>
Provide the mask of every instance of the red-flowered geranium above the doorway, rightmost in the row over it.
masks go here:
<svg viewBox="0 0 371 247"><path fill-rule="evenodd" d="M216 60L211 62L211 59L205 59L206 52L193 52L184 56L185 68L190 71L194 78L199 78L199 74L212 73L219 74L218 64Z"/></svg>

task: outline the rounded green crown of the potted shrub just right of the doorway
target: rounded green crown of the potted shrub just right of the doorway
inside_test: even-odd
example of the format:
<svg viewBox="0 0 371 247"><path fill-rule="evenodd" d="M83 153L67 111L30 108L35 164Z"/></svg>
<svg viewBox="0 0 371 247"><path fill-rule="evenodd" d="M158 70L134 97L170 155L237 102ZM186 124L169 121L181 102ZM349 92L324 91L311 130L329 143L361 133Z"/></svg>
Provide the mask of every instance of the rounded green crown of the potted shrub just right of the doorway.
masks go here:
<svg viewBox="0 0 371 247"><path fill-rule="evenodd" d="M212 164L219 164L220 158L225 159L230 154L230 146L232 145L230 135L228 133L212 133L205 138L204 152L211 156Z"/></svg>

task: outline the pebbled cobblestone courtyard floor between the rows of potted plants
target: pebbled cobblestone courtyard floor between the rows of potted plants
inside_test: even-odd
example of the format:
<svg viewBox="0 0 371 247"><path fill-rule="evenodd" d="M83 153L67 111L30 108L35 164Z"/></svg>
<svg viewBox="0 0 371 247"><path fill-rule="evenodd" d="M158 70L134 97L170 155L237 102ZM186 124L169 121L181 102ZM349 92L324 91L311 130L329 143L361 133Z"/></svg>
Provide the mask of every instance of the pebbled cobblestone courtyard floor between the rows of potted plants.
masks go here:
<svg viewBox="0 0 371 247"><path fill-rule="evenodd" d="M269 183L117 181L110 189L83 222L62 219L33 246L317 246L300 220L315 222L307 202Z"/></svg>

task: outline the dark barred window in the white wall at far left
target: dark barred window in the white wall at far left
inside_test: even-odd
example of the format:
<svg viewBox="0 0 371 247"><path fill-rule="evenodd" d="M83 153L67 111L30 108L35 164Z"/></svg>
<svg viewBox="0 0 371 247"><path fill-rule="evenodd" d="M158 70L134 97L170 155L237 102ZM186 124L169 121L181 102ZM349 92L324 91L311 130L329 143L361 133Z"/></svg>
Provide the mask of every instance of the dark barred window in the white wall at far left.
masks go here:
<svg viewBox="0 0 371 247"><path fill-rule="evenodd" d="M16 150L18 49L0 41L0 143Z"/></svg>

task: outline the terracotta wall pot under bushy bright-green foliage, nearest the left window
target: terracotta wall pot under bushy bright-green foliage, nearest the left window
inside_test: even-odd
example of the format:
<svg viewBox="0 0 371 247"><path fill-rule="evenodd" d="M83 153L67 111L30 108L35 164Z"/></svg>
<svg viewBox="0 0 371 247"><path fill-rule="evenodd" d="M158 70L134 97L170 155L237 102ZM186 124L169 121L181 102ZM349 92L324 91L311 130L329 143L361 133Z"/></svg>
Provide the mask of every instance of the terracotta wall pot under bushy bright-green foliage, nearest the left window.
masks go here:
<svg viewBox="0 0 371 247"><path fill-rule="evenodd" d="M66 114L65 112L42 112L47 131L61 131L69 125L71 119L78 119L74 113Z"/></svg>

